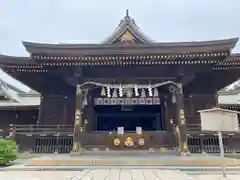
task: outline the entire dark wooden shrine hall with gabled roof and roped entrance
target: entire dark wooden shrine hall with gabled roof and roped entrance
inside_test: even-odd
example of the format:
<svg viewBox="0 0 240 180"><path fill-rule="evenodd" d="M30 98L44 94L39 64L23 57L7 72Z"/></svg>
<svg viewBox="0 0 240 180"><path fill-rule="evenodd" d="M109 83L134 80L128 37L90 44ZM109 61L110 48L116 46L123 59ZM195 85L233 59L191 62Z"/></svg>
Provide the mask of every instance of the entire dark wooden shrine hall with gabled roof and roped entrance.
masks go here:
<svg viewBox="0 0 240 180"><path fill-rule="evenodd" d="M217 106L216 92L239 78L237 41L155 42L127 11L99 44L23 41L29 57L1 55L0 66L41 94L40 126L74 126L75 152L187 151L187 135L201 133L197 111Z"/></svg>

